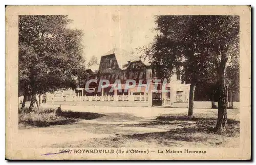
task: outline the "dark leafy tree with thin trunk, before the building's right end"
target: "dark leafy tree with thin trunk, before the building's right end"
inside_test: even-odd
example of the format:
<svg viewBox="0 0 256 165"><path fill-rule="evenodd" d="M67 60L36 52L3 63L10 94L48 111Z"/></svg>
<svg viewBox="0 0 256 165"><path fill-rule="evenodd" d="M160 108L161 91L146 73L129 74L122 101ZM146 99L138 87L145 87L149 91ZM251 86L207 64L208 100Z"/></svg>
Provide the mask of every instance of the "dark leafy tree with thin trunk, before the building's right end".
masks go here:
<svg viewBox="0 0 256 165"><path fill-rule="evenodd" d="M158 32L150 47L142 48L159 76L168 78L180 70L181 80L189 83L188 116L193 116L194 95L197 84L214 68L209 56L209 43L203 32L206 16L157 16Z"/></svg>

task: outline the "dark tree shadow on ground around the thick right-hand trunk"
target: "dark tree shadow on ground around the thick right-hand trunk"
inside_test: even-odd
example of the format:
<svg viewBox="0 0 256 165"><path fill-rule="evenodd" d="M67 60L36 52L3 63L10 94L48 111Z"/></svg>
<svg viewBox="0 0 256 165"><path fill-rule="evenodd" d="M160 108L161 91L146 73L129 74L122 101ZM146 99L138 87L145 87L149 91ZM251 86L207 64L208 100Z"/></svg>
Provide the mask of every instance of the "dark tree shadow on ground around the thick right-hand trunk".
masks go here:
<svg viewBox="0 0 256 165"><path fill-rule="evenodd" d="M164 132L152 132L125 135L129 139L144 141L154 139L159 142L164 140L187 141L187 142L206 142L210 139L218 139L218 136L239 137L240 122L236 120L227 120L227 131L219 134L214 132L217 119L214 118L197 118L186 116L159 116L159 121L151 123L142 123L142 125L177 125L183 128L176 128ZM139 125L138 125L139 126Z"/></svg>

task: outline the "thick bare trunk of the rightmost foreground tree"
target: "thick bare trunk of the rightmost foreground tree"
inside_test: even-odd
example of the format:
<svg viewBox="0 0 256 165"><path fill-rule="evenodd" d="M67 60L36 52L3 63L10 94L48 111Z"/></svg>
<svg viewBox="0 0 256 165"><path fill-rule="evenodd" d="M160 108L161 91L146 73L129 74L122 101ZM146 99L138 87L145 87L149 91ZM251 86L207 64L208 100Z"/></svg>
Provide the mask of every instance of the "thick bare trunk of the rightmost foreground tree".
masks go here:
<svg viewBox="0 0 256 165"><path fill-rule="evenodd" d="M215 127L216 132L225 132L227 125L227 97L225 86L225 66L219 71L220 96L218 101L218 120Z"/></svg>

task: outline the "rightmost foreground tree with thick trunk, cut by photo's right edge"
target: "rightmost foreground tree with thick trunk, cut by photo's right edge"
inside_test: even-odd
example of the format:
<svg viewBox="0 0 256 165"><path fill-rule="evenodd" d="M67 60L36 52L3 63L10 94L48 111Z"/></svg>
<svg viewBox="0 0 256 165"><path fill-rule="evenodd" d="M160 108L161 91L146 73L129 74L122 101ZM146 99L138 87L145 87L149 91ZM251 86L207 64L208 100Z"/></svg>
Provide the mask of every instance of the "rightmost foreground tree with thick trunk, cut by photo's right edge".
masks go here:
<svg viewBox="0 0 256 165"><path fill-rule="evenodd" d="M209 37L212 46L212 56L217 66L217 79L219 87L218 120L215 131L226 131L227 123L227 63L234 63L239 54L239 17L238 16L214 16L210 26ZM232 65L229 65L232 66Z"/></svg>

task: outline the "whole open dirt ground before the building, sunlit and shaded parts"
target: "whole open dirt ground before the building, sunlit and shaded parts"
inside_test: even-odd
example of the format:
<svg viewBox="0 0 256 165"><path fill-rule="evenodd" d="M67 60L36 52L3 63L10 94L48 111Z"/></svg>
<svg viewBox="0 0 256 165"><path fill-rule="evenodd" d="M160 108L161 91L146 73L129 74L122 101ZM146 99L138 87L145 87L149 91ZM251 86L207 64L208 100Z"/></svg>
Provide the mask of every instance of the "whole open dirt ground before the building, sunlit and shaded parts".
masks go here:
<svg viewBox="0 0 256 165"><path fill-rule="evenodd" d="M104 114L67 125L18 130L23 147L239 147L239 109L228 109L228 131L212 133L217 109L61 106L63 111Z"/></svg>

